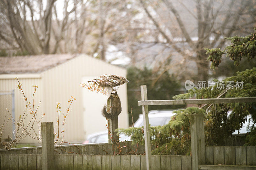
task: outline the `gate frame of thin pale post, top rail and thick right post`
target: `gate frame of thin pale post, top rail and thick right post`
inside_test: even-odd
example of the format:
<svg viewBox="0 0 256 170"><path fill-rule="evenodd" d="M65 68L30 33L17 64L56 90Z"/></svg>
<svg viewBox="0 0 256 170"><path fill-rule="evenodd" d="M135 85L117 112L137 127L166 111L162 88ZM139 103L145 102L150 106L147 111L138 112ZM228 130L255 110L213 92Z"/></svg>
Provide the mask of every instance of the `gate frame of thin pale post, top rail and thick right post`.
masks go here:
<svg viewBox="0 0 256 170"><path fill-rule="evenodd" d="M140 86L141 100L138 105L142 106L145 153L147 170L152 169L151 144L149 136L148 106L149 105L186 105L186 104L220 104L220 103L246 103L256 102L256 97L241 98L218 98L218 99L185 99L185 100L148 100L147 85ZM192 170L197 169L256 169L256 166L212 166L205 164L205 142L204 142L204 117L201 114L192 114L190 119Z"/></svg>

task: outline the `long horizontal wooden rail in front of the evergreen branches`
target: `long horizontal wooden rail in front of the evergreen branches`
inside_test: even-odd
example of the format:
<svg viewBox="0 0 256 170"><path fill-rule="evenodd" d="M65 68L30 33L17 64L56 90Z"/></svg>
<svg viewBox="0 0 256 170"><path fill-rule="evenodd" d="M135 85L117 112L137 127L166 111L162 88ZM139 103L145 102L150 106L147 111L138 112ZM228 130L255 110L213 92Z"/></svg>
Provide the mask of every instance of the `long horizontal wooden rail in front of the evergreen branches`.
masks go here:
<svg viewBox="0 0 256 170"><path fill-rule="evenodd" d="M207 104L207 103L243 103L256 102L256 97L240 98L219 98L219 99L184 99L184 100L140 100L139 106L145 105L186 105L186 104Z"/></svg>

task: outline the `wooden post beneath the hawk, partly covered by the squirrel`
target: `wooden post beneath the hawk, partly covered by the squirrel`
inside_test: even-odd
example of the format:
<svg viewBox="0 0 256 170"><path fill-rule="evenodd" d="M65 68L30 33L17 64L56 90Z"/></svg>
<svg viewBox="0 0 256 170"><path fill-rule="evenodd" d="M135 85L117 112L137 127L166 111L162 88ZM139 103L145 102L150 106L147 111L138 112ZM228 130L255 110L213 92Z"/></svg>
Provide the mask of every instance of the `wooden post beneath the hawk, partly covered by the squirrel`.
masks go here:
<svg viewBox="0 0 256 170"><path fill-rule="evenodd" d="M109 108L111 107L111 100L107 100L107 111L110 113ZM118 116L115 116L113 119L108 119L108 128L110 133L113 135L112 138L108 132L108 144L112 144L113 141L119 141L119 136L116 134L115 130L118 129Z"/></svg>

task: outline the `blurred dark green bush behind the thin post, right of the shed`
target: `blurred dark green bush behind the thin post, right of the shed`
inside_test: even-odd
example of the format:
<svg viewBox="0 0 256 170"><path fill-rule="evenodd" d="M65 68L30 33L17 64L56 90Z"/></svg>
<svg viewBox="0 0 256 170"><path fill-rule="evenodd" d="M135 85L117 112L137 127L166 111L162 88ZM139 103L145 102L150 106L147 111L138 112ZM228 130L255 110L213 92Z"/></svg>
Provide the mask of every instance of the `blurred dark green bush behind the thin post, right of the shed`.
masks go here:
<svg viewBox="0 0 256 170"><path fill-rule="evenodd" d="M142 114L142 107L138 106L138 101L141 100L140 85L147 85L148 100L170 100L183 90L177 79L167 71L159 74L146 67L143 70L129 67L127 79L130 81L127 84L128 110L131 111L130 107L132 107L134 122L139 118L139 114ZM185 107L185 105L148 106L148 110L176 109L180 107ZM132 125L132 115L129 113L130 125Z"/></svg>

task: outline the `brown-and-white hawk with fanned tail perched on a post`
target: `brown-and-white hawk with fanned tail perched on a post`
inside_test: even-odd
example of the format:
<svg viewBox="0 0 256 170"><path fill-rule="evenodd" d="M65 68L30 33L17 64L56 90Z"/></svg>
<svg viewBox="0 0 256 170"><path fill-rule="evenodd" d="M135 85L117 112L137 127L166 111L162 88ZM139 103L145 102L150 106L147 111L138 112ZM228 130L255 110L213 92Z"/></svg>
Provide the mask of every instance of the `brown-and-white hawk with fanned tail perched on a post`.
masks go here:
<svg viewBox="0 0 256 170"><path fill-rule="evenodd" d="M129 81L122 77L114 74L103 74L98 78L88 81L87 83L79 83L81 86L104 95L111 95L111 92L117 91L120 85L129 83Z"/></svg>

